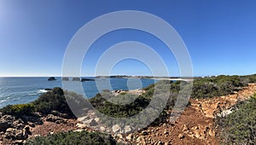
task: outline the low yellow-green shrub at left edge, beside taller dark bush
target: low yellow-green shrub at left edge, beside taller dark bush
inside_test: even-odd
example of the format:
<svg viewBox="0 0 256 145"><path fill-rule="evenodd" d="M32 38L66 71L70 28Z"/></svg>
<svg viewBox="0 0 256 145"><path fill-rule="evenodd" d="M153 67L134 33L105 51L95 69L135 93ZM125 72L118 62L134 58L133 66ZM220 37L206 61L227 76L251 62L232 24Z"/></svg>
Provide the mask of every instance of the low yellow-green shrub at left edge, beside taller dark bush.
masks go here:
<svg viewBox="0 0 256 145"><path fill-rule="evenodd" d="M30 115L35 112L35 106L32 103L8 105L0 109L0 112L20 117L22 115Z"/></svg>

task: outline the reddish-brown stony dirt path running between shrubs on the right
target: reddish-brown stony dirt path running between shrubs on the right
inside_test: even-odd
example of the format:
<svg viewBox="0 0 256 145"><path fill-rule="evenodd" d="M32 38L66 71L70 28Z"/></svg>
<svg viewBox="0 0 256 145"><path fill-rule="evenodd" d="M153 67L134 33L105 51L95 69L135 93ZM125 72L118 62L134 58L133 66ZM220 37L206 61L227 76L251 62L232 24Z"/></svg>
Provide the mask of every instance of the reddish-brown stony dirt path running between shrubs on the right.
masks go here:
<svg viewBox="0 0 256 145"><path fill-rule="evenodd" d="M245 100L256 92L256 84L249 84L233 95L211 99L190 99L187 107L174 124L166 123L133 135L137 144L219 144L214 115L228 110L239 100Z"/></svg>

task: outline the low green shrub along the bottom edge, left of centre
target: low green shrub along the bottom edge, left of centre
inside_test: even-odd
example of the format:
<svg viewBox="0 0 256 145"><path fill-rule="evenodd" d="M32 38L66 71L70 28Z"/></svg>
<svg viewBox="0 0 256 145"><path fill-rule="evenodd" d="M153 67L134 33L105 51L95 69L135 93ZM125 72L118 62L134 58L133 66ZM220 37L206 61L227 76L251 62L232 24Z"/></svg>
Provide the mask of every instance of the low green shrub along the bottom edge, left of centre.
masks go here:
<svg viewBox="0 0 256 145"><path fill-rule="evenodd" d="M97 132L61 132L55 135L38 136L26 142L26 145L49 145L49 144L116 144L113 137Z"/></svg>

